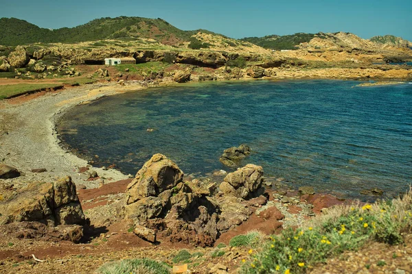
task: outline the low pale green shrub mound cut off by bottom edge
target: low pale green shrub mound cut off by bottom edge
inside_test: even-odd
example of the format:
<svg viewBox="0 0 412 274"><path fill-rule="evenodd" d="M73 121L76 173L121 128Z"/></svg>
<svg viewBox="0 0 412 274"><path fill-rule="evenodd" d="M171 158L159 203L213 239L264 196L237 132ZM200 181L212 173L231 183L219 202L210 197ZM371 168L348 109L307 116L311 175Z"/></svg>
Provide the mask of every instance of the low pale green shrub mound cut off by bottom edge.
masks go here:
<svg viewBox="0 0 412 274"><path fill-rule="evenodd" d="M167 264L155 260L134 259L122 260L119 262L108 262L100 266L97 271L100 274L170 274L170 267Z"/></svg>

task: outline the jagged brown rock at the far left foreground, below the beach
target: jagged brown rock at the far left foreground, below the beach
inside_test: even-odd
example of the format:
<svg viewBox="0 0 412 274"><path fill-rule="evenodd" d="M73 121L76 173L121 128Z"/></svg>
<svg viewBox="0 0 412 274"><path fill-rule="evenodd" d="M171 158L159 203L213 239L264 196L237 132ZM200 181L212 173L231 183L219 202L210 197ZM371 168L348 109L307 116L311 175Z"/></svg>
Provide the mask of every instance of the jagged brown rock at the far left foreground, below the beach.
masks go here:
<svg viewBox="0 0 412 274"><path fill-rule="evenodd" d="M85 219L71 177L54 183L32 183L14 199L1 202L0 224L38 221L49 226L84 225Z"/></svg>

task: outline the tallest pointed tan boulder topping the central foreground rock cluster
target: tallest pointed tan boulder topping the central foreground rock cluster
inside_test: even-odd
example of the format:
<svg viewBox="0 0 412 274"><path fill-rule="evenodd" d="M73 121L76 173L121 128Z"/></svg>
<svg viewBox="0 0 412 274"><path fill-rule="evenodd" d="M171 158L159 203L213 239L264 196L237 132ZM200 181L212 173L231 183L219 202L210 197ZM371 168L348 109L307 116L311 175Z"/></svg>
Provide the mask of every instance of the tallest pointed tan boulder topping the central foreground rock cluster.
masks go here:
<svg viewBox="0 0 412 274"><path fill-rule="evenodd" d="M134 203L145 197L157 196L179 184L183 171L165 155L155 154L137 172L126 189L126 203Z"/></svg>

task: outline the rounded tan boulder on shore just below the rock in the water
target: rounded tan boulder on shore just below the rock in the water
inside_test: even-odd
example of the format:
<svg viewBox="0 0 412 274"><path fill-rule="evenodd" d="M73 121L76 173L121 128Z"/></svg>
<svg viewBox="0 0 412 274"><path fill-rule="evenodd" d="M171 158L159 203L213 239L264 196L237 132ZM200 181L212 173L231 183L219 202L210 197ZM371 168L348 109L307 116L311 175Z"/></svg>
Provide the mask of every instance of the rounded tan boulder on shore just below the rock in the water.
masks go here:
<svg viewBox="0 0 412 274"><path fill-rule="evenodd" d="M247 164L241 169L229 173L219 187L227 195L231 194L246 199L253 196L254 192L261 188L263 179L262 166Z"/></svg>

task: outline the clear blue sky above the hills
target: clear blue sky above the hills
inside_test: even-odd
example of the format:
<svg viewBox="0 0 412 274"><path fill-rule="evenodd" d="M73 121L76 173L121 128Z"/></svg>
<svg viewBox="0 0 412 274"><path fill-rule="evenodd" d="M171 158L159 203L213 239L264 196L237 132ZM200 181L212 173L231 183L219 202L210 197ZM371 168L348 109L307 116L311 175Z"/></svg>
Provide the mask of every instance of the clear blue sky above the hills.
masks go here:
<svg viewBox="0 0 412 274"><path fill-rule="evenodd" d="M412 0L0 0L0 17L52 29L122 15L163 18L180 29L233 38L341 31L412 40Z"/></svg>

